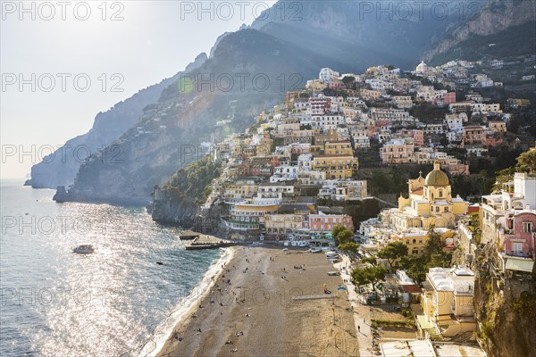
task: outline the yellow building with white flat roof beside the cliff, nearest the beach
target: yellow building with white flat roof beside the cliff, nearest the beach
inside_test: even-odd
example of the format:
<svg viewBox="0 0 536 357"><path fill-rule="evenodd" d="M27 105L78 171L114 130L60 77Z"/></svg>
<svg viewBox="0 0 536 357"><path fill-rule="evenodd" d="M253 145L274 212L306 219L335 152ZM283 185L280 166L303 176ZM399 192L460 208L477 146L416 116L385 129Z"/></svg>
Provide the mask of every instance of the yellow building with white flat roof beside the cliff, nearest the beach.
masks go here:
<svg viewBox="0 0 536 357"><path fill-rule="evenodd" d="M465 267L431 268L423 282L423 315L417 315L421 336L452 337L475 331L473 293L473 271Z"/></svg>

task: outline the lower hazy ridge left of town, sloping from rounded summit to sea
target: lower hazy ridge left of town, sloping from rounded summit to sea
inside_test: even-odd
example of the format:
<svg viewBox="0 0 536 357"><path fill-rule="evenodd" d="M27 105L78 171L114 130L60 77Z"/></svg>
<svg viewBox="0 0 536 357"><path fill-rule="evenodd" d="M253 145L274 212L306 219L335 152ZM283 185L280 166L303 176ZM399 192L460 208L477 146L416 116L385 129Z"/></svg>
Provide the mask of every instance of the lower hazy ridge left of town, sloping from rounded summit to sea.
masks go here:
<svg viewBox="0 0 536 357"><path fill-rule="evenodd" d="M246 129L326 62L339 64L255 29L222 37L212 58L166 87L131 129L80 166L68 194L56 198L147 204L155 185L204 155L202 143ZM216 125L221 120L230 122Z"/></svg>

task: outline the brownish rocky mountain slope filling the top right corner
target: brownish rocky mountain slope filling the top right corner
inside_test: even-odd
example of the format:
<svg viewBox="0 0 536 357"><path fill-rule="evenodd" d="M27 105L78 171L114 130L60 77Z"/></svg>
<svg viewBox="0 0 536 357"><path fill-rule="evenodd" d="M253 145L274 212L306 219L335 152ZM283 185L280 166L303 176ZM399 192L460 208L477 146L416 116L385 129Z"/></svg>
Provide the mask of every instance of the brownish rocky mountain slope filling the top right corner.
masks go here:
<svg viewBox="0 0 536 357"><path fill-rule="evenodd" d="M536 2L492 0L468 21L449 29L423 54L423 60L439 65L456 59L478 61L523 54L536 54Z"/></svg>

